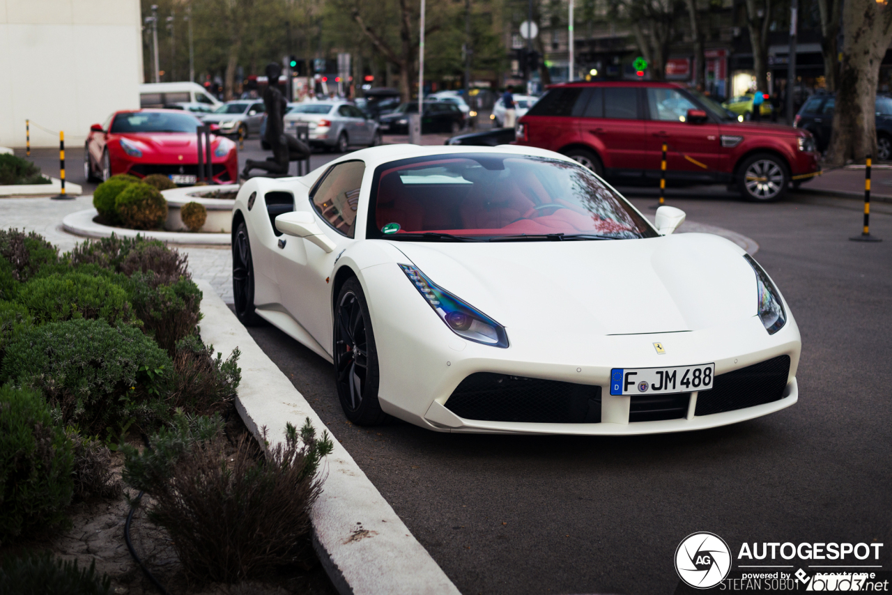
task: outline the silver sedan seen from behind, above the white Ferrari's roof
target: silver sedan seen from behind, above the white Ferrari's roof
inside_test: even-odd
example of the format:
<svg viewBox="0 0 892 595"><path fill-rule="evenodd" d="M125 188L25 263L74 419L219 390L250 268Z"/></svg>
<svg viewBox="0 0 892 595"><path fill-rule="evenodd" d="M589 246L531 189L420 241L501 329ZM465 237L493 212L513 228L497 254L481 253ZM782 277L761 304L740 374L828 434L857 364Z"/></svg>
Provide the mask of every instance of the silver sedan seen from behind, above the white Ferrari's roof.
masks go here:
<svg viewBox="0 0 892 595"><path fill-rule="evenodd" d="M349 145L381 144L378 123L352 103L304 102L294 105L285 114L285 132L297 134L301 124L310 126L310 145L346 153Z"/></svg>

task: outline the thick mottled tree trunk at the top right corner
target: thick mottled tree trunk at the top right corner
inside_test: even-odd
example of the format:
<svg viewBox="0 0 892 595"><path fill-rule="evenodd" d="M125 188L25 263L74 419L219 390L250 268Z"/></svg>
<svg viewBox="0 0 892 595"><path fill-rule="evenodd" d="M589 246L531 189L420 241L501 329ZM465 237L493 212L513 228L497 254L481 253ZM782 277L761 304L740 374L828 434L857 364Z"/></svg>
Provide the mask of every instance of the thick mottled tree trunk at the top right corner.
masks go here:
<svg viewBox="0 0 892 595"><path fill-rule="evenodd" d="M845 40L839 67L830 165L863 162L876 154L876 96L880 62L892 41L892 5L876 0L846 0L842 7Z"/></svg>

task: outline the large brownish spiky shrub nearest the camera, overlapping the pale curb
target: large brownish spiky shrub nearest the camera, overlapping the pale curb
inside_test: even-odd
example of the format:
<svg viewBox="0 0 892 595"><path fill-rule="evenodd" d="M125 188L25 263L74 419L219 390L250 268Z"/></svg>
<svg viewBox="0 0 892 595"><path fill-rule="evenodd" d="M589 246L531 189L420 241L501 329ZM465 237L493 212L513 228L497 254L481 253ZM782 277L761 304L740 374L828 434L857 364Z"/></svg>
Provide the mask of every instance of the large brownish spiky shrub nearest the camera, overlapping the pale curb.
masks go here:
<svg viewBox="0 0 892 595"><path fill-rule="evenodd" d="M288 424L285 442L264 459L250 438L227 453L221 426L219 417L190 424L179 414L150 439L151 450L124 447L124 479L152 496L149 518L168 530L189 578L235 583L300 552L332 442L307 419L300 434Z"/></svg>

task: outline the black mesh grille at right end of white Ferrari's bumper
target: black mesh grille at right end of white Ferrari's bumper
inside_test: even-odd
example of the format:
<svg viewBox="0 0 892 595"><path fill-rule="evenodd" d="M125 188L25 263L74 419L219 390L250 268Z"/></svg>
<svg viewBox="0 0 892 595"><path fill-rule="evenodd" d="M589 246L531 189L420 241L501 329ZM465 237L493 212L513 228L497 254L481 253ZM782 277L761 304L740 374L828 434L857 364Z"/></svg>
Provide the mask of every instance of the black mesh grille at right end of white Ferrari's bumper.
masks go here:
<svg viewBox="0 0 892 595"><path fill-rule="evenodd" d="M787 387L789 355L715 376L713 390L699 393L698 416L780 401Z"/></svg>

